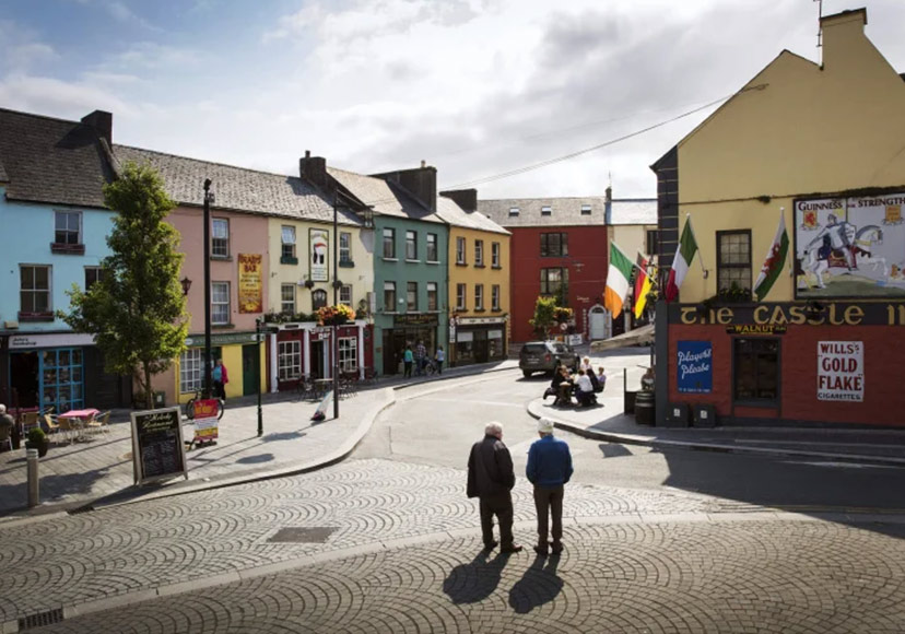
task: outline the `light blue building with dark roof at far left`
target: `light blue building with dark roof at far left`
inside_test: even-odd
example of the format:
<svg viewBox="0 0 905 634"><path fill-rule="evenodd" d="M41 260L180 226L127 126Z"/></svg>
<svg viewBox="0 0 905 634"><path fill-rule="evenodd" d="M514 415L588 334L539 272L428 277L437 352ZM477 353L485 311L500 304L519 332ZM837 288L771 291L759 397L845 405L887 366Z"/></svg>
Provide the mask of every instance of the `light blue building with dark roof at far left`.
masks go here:
<svg viewBox="0 0 905 634"><path fill-rule="evenodd" d="M56 317L109 255L113 115L67 121L0 109L0 402L56 411L126 407L131 377L108 375L90 334Z"/></svg>

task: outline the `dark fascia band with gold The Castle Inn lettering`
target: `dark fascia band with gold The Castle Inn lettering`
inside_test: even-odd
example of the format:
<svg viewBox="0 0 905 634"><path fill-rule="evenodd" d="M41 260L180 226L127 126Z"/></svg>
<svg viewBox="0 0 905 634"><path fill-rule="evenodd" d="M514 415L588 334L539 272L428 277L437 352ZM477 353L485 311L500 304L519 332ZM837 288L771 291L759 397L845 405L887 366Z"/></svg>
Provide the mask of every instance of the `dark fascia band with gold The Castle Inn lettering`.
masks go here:
<svg viewBox="0 0 905 634"><path fill-rule="evenodd" d="M684 325L905 326L905 303L821 302L744 304L703 308L673 304L669 322ZM778 332L778 331L777 331Z"/></svg>

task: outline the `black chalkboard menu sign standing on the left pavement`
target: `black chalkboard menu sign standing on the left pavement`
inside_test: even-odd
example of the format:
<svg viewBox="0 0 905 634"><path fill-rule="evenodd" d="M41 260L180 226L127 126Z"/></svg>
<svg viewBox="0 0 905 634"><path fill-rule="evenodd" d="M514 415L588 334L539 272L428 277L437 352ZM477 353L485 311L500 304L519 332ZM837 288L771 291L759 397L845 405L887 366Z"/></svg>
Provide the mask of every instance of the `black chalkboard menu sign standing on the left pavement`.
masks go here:
<svg viewBox="0 0 905 634"><path fill-rule="evenodd" d="M179 408L132 412L132 457L136 484L176 476L188 479Z"/></svg>

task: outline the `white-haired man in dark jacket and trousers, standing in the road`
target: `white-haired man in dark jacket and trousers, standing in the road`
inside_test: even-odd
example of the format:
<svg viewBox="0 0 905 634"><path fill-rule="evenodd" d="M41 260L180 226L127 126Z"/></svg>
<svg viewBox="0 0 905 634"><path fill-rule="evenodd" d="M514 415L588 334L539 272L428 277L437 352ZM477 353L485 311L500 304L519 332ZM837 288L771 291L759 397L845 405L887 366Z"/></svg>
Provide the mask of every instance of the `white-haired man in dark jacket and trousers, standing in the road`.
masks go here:
<svg viewBox="0 0 905 634"><path fill-rule="evenodd" d="M502 553L521 551L513 537L513 486L515 471L509 449L503 444L503 425L490 422L484 427L484 439L472 445L468 457L467 493L480 501L484 550L493 550L498 543ZM498 542L493 539L494 515L499 523Z"/></svg>

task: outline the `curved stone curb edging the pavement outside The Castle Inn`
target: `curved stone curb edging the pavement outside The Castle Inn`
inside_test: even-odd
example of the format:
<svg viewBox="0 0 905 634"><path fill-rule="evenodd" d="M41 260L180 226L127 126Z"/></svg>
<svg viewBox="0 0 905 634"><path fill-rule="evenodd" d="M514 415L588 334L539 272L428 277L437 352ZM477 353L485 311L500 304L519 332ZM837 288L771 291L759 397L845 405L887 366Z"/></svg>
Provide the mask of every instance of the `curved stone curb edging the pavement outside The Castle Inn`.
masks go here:
<svg viewBox="0 0 905 634"><path fill-rule="evenodd" d="M593 441L618 443L620 445L640 445L658 449L685 449L692 451L714 451L718 454L747 454L750 456L775 456L783 458L819 458L822 460L832 459L836 462L858 462L875 465L880 467L905 467L905 458L893 458L884 456L865 456L858 454L832 454L825 451L807 451L803 449L779 449L767 447L744 447L739 445L721 445L717 443L702 443L694 441L663 441L650 436L637 434L620 434L615 432L600 432L587 430L575 423L563 421L549 415L546 412L540 414L531 409L534 401L526 407L528 414L534 419L545 416L553 421L554 425L563 431Z"/></svg>

